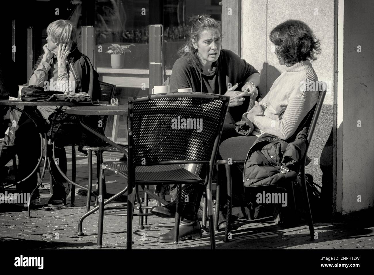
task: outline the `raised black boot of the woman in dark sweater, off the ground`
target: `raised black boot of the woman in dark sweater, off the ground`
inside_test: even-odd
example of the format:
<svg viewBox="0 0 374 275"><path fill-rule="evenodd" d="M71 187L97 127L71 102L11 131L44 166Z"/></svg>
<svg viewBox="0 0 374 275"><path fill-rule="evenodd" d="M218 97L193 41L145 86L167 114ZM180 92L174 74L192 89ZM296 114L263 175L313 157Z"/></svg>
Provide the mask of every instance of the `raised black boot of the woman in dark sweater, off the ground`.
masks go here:
<svg viewBox="0 0 374 275"><path fill-rule="evenodd" d="M202 192L204 186L200 186L197 184L185 184L182 186L181 195L182 198L180 200L179 209L180 209L180 216L187 220L196 220L196 214L199 209L199 205L197 201L201 199ZM177 200L180 199L178 194L174 201L165 205L165 206L155 206L151 209L151 213L157 217L172 219L175 218L175 206L177 204ZM200 202L200 201L199 201Z"/></svg>

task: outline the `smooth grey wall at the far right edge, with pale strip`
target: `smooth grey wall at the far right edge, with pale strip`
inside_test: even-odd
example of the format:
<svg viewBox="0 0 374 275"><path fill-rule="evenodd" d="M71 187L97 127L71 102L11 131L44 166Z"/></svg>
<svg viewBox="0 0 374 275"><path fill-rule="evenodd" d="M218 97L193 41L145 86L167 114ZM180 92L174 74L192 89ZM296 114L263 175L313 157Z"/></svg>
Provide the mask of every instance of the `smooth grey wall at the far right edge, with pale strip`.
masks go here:
<svg viewBox="0 0 374 275"><path fill-rule="evenodd" d="M337 163L342 165L337 170L341 190L337 211L345 214L373 207L374 202L374 1L345 0L339 5L344 5L339 14L344 12L344 36L343 79L339 79L343 90L337 94L342 111L338 116L341 153Z"/></svg>

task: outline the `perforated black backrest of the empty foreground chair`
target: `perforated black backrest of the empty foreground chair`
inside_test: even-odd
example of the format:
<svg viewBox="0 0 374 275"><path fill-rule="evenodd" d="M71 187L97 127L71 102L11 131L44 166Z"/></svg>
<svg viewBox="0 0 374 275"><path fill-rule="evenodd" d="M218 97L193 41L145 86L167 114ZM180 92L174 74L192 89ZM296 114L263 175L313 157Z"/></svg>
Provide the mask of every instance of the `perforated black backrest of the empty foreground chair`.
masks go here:
<svg viewBox="0 0 374 275"><path fill-rule="evenodd" d="M168 93L129 98L129 164L214 163L229 97Z"/></svg>

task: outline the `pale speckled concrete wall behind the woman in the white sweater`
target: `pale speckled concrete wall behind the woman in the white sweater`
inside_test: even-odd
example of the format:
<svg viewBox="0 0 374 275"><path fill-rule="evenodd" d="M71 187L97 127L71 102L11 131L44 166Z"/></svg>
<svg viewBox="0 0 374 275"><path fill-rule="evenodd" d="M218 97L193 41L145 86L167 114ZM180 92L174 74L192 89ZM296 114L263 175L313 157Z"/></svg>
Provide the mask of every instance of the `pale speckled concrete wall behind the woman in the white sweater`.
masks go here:
<svg viewBox="0 0 374 275"><path fill-rule="evenodd" d="M287 19L306 22L321 40L322 52L313 62L319 80L328 84L324 106L313 135L308 156L313 160L307 166L307 174L322 185L322 198L326 213L335 207L336 150L336 54L334 0L242 0L242 58L260 71L260 92L264 96L274 80L283 72L269 39L270 31Z"/></svg>

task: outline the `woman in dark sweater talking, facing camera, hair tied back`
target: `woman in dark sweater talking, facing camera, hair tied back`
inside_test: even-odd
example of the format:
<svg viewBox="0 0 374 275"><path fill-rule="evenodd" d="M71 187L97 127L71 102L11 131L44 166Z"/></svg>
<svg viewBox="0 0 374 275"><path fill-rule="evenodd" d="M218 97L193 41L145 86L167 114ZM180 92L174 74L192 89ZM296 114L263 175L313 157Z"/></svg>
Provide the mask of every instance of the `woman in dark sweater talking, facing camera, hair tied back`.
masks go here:
<svg viewBox="0 0 374 275"><path fill-rule="evenodd" d="M170 78L171 92L178 88L192 88L194 92L225 94L230 96L229 112L226 116L221 141L237 136L234 123L239 121L248 109L250 99L258 95L260 74L245 60L232 51L221 49L221 24L206 15L193 16L191 30L186 44L180 49L181 57L175 61ZM235 90L239 91L235 91ZM217 156L217 158L220 158ZM204 169L202 169L204 170ZM203 173L203 172L202 172ZM200 177L204 177L200 174ZM226 180L221 168L218 180ZM240 181L239 181L240 184ZM226 186L226 183L221 183ZM203 186L186 184L182 187L181 216L184 220L179 229L179 240L201 238L197 210L203 193ZM223 192L225 193L225 192ZM178 198L177 198L178 199ZM154 207L151 213L159 217L175 217L175 201L165 207ZM160 235L160 242L172 242L174 229Z"/></svg>

